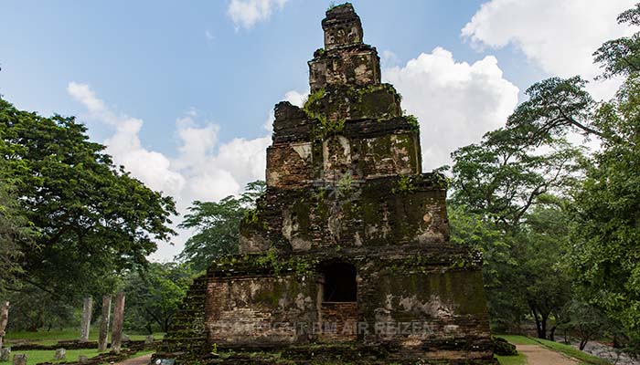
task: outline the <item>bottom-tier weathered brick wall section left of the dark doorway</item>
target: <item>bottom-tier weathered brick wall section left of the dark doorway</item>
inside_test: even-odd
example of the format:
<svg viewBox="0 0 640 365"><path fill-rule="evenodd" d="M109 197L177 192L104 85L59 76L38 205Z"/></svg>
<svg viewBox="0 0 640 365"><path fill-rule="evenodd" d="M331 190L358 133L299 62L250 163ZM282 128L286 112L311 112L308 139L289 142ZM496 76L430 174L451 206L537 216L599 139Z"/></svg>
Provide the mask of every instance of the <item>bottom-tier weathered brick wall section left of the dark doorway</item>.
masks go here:
<svg viewBox="0 0 640 365"><path fill-rule="evenodd" d="M293 275L212 277L207 287L208 341L265 346L309 340L315 320L315 283Z"/></svg>

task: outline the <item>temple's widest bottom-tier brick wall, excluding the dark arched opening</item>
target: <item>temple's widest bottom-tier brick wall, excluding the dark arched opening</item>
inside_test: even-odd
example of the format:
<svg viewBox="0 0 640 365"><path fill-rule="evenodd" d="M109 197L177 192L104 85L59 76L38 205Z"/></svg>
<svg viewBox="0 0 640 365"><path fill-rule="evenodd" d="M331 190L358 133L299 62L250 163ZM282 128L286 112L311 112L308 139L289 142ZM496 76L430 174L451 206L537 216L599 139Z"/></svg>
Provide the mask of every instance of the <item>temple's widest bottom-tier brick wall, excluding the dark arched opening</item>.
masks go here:
<svg viewBox="0 0 640 365"><path fill-rule="evenodd" d="M411 352L453 341L475 346L464 351L487 350L479 257L459 246L270 255L229 258L209 276L205 322L211 345L358 340ZM322 301L321 266L337 261L357 269L355 303Z"/></svg>

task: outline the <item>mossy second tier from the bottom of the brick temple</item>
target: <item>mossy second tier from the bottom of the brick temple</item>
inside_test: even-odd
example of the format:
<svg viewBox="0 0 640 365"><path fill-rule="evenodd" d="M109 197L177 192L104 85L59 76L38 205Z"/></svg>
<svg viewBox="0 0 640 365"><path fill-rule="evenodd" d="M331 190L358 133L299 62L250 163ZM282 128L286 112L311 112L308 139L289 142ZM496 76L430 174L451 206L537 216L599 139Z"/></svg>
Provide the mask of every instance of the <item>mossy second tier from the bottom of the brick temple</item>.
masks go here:
<svg viewBox="0 0 640 365"><path fill-rule="evenodd" d="M449 224L438 175L378 178L297 190L268 188L240 226L240 251L283 252L446 242Z"/></svg>

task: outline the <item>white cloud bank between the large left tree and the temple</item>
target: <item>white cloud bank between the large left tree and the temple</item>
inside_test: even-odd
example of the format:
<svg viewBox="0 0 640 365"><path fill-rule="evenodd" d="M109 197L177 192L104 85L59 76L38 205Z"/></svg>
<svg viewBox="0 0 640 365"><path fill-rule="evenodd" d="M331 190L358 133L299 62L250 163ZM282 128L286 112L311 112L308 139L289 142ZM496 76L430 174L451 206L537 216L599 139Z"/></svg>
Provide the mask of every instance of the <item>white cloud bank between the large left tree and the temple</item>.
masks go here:
<svg viewBox="0 0 640 365"><path fill-rule="evenodd" d="M176 156L172 158L144 148L139 138L144 121L116 114L96 97L89 85L70 82L68 92L87 108L85 118L113 127L112 136L104 144L115 163L122 164L150 188L176 199L181 216L174 217L174 225L183 219L187 207L194 200L218 201L241 193L247 183L264 180L266 148L271 144L269 135L220 143L219 126L198 122L197 110L189 109L183 117L176 119L179 145ZM285 99L299 102L303 98L301 95L290 91ZM181 229L176 231L178 236L173 240L176 245L159 245L153 255L155 259L170 259L182 250L191 233Z"/></svg>

